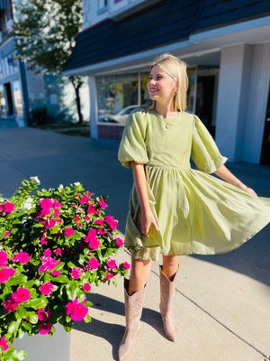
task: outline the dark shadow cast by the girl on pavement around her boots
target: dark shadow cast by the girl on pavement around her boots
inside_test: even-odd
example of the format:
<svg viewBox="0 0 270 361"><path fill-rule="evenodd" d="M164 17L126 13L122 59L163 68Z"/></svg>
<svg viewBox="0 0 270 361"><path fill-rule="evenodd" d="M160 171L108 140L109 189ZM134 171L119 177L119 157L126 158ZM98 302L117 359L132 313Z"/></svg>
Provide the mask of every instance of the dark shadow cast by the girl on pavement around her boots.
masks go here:
<svg viewBox="0 0 270 361"><path fill-rule="evenodd" d="M90 308L90 313L91 309L94 308L96 310L101 310L101 312L106 311L116 313L122 317L125 315L124 304L120 301L113 300L110 297L106 297L97 293L91 293L87 295L87 300L93 303L93 306ZM141 321L148 323L148 325L156 329L160 335L166 338L159 312L156 310L144 308L142 311ZM92 334L99 338L104 338L112 345L113 359L117 359L118 346L125 330L124 326L117 325L115 323L103 322L100 319L92 318L92 322L90 323L75 322L73 329Z"/></svg>

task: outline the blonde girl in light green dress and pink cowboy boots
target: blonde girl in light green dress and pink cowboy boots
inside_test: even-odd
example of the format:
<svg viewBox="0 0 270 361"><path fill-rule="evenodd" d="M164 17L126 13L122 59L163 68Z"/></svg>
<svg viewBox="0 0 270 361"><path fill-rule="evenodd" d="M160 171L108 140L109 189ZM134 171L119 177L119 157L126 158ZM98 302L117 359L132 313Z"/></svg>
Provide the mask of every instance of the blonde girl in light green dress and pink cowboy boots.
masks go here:
<svg viewBox="0 0 270 361"><path fill-rule="evenodd" d="M179 255L229 252L269 222L270 199L258 198L223 165L227 158L200 119L184 112L186 90L184 61L159 56L148 79L152 102L130 114L121 139L119 160L132 168L134 186L125 234L131 270L124 284L120 361L130 356L139 332L152 261L162 255L160 312L167 338L175 341L172 302ZM191 157L197 170L191 169Z"/></svg>

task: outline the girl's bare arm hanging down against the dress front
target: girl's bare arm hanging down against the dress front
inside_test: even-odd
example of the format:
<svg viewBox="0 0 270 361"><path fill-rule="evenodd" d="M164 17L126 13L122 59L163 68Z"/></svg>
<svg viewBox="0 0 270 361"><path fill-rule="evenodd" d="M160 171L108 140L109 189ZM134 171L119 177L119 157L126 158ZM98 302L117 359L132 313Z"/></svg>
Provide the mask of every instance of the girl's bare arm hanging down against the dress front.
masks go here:
<svg viewBox="0 0 270 361"><path fill-rule="evenodd" d="M144 164L139 164L136 162L131 162L132 170L133 170L133 178L134 184L137 191L138 199L139 199L139 206L141 210L140 215L140 227L141 232L149 237L149 227L151 224L155 227L158 231L157 221L151 211L148 202L148 187L147 187L147 180L144 171Z"/></svg>

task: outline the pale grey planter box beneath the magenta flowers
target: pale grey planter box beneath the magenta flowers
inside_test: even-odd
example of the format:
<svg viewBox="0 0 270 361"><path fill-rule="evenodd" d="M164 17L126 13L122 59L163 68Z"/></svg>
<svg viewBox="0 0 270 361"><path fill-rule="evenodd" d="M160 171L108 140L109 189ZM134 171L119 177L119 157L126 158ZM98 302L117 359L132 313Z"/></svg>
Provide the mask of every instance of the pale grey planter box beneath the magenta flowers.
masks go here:
<svg viewBox="0 0 270 361"><path fill-rule="evenodd" d="M15 339L13 347L27 352L25 361L69 361L70 332L66 332L61 325L56 325L55 329L51 338L48 335L25 335Z"/></svg>

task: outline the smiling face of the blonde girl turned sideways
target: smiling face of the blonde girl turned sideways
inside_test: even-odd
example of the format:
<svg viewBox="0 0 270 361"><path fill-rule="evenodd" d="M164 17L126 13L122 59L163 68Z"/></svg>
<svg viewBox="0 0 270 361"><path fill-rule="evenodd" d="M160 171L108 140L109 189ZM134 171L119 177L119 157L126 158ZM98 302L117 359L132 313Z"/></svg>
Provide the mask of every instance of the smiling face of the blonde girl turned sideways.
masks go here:
<svg viewBox="0 0 270 361"><path fill-rule="evenodd" d="M166 100L170 101L174 97L176 89L175 79L160 69L158 65L155 65L149 74L149 97L152 100L164 103Z"/></svg>

